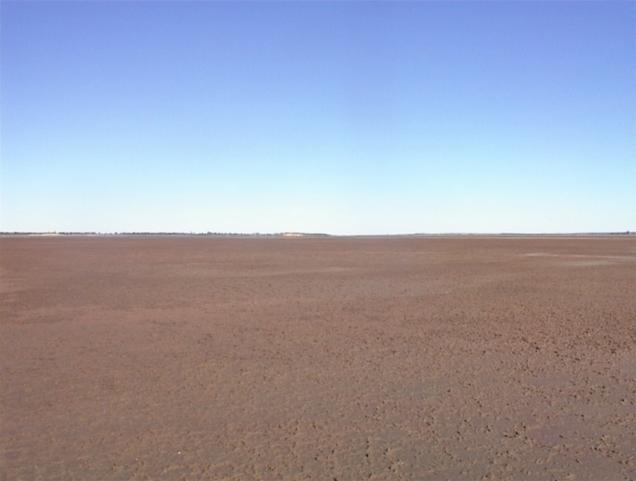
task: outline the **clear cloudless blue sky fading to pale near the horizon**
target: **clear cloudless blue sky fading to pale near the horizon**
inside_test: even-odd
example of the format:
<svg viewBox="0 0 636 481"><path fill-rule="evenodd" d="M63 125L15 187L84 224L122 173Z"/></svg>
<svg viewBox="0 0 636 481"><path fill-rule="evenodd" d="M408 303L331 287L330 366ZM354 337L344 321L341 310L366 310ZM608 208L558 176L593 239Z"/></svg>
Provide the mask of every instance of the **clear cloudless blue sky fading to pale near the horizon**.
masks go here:
<svg viewBox="0 0 636 481"><path fill-rule="evenodd" d="M0 17L0 230L636 230L636 2Z"/></svg>

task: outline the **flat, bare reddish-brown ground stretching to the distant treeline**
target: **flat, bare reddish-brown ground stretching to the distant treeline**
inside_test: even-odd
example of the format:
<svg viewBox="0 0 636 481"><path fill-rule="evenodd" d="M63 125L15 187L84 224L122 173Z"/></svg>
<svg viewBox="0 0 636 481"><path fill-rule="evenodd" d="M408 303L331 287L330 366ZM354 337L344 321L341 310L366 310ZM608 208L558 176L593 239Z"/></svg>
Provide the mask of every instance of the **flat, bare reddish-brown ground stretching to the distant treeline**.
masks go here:
<svg viewBox="0 0 636 481"><path fill-rule="evenodd" d="M3 480L634 480L634 238L0 239Z"/></svg>

